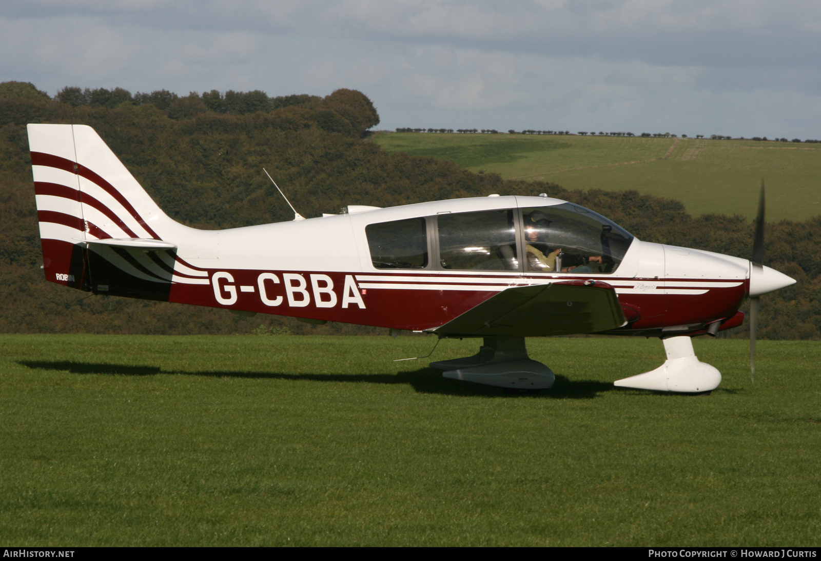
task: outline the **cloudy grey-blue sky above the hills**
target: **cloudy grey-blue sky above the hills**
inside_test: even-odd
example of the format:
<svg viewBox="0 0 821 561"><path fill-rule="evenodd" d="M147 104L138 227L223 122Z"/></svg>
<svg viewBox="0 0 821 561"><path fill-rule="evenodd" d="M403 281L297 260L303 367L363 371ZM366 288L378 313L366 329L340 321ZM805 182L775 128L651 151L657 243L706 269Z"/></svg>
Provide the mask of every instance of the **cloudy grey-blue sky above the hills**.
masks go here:
<svg viewBox="0 0 821 561"><path fill-rule="evenodd" d="M0 0L0 81L358 89L375 128L821 139L818 0Z"/></svg>

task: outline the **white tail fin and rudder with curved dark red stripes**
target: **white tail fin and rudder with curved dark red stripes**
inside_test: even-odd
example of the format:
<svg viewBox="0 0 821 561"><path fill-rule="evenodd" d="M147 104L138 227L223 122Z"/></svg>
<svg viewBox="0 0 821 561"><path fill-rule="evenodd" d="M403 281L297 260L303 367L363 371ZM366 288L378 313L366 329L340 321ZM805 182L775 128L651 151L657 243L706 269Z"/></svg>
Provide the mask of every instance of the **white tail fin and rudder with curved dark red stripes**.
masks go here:
<svg viewBox="0 0 821 561"><path fill-rule="evenodd" d="M162 234L181 225L160 210L91 127L28 130L46 279L167 300L177 246Z"/></svg>

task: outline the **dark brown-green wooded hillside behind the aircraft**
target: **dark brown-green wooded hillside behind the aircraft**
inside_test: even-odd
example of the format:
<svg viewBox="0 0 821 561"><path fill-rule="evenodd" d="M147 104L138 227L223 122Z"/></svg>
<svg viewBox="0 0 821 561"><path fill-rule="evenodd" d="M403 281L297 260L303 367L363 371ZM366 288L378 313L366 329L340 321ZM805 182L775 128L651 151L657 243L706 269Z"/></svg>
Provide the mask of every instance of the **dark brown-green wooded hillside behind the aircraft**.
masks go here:
<svg viewBox="0 0 821 561"><path fill-rule="evenodd" d="M265 166L306 217L337 212L347 204L389 207L493 193L548 193L612 218L639 239L743 258L752 252L753 225L744 217L691 217L678 201L635 191L569 191L551 183L472 173L432 157L388 154L365 137L378 123L378 114L354 90L337 90L318 100L297 96L312 100L250 113L209 108L203 94L188 96L197 108L186 114L172 111L171 105L163 108L162 101L135 103L136 97L128 101L121 94L125 101L113 107L74 104L50 98L31 84L0 84L0 332L383 332L333 323L308 326L276 316L245 318L181 304L88 298L45 281L25 131L30 122L94 127L160 208L197 228L291 220L293 212L264 175ZM764 262L798 284L762 298L760 337L821 339L819 232L821 217L768 223ZM746 326L720 335L744 337Z"/></svg>

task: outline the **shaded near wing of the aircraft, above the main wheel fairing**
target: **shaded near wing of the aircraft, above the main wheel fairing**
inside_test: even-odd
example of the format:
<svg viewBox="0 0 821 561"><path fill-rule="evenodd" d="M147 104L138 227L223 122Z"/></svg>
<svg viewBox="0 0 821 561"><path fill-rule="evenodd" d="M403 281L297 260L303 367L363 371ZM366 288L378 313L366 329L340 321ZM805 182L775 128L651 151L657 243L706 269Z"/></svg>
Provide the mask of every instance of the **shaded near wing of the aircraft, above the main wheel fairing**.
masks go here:
<svg viewBox="0 0 821 561"><path fill-rule="evenodd" d="M611 285L570 280L502 290L431 331L448 336L544 336L596 333L624 324Z"/></svg>

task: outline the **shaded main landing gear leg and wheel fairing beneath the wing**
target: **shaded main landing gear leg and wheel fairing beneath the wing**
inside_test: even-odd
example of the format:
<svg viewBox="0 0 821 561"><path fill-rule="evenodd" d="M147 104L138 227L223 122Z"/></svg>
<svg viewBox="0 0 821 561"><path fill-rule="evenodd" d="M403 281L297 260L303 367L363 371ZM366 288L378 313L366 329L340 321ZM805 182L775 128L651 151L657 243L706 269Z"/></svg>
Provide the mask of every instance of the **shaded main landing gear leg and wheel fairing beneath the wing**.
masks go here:
<svg viewBox="0 0 821 561"><path fill-rule="evenodd" d="M485 337L472 357L430 363L443 376L511 390L547 390L553 387L553 371L527 356L524 337Z"/></svg>

